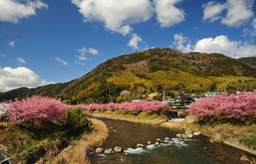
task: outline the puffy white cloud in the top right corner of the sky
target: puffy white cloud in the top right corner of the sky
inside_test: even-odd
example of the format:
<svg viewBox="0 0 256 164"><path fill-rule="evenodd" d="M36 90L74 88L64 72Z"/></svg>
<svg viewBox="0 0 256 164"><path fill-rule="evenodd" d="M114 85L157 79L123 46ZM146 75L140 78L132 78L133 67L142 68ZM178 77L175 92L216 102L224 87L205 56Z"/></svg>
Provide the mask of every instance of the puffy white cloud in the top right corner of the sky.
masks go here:
<svg viewBox="0 0 256 164"><path fill-rule="evenodd" d="M245 22L249 21L254 15L252 11L255 0L227 0L224 4L210 1L208 4L203 4L203 21L210 20L214 22L218 19L221 23L230 27L240 27ZM220 14L226 10L225 16Z"/></svg>

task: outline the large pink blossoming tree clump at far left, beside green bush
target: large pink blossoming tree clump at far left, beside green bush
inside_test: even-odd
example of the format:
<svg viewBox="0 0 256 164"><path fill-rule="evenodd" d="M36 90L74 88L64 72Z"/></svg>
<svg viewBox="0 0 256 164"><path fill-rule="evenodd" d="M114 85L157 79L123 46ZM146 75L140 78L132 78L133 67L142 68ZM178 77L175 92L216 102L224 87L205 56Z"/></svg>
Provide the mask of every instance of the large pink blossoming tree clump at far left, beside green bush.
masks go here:
<svg viewBox="0 0 256 164"><path fill-rule="evenodd" d="M41 122L48 120L63 121L63 112L70 107L65 105L60 99L41 97L34 95L32 98L23 99L14 102L11 100L1 103L3 108L0 110L8 112L10 121L16 121L40 125Z"/></svg>

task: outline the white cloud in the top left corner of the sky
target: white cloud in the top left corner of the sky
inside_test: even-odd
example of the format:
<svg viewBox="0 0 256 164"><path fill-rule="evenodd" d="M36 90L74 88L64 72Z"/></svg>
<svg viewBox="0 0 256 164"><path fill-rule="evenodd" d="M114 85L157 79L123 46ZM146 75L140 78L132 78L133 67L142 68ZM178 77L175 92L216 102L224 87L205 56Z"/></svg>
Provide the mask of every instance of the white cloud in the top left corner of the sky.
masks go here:
<svg viewBox="0 0 256 164"><path fill-rule="evenodd" d="M48 5L40 0L26 1L26 4L16 0L1 0L0 21L19 23L18 20L21 18L36 15L37 8L48 8Z"/></svg>

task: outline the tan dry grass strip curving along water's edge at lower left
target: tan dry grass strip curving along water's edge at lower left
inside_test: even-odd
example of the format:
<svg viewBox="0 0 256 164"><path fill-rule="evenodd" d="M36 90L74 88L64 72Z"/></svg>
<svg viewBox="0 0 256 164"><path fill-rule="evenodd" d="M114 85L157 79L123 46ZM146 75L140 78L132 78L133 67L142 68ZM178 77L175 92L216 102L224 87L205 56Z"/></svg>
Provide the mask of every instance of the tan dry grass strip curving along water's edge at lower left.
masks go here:
<svg viewBox="0 0 256 164"><path fill-rule="evenodd" d="M98 119L92 120L92 131L89 134L82 134L77 143L65 148L58 156L54 156L54 152L48 151L45 158L42 158L37 163L90 163L87 157L87 152L93 148L100 146L108 136L108 129L104 122Z"/></svg>

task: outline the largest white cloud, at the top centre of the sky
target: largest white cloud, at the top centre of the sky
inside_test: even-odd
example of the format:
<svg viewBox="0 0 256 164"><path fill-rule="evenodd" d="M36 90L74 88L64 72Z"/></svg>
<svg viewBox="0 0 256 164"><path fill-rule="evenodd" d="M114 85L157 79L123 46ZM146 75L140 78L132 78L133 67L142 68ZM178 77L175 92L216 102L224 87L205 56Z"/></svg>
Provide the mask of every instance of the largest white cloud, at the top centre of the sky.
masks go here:
<svg viewBox="0 0 256 164"><path fill-rule="evenodd" d="M105 28L122 35L132 31L130 24L149 20L153 14L149 0L73 0L84 21L104 23Z"/></svg>

